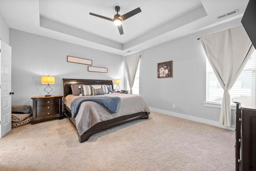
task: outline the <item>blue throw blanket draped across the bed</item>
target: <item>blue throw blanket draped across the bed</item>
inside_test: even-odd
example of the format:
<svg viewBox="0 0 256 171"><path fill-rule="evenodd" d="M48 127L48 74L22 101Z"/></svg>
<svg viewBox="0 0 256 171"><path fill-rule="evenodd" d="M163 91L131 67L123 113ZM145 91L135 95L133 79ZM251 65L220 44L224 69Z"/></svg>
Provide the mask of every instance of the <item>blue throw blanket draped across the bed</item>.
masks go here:
<svg viewBox="0 0 256 171"><path fill-rule="evenodd" d="M71 106L70 106L72 117L76 117L76 115L78 113L78 110L80 108L80 105L84 101L94 101L94 102L100 103L100 104L104 105L104 107L106 107L112 113L116 113L116 109L117 109L117 105L120 101L120 97L104 96L104 97L80 97L80 98L76 98L76 99L74 99L74 101L71 102Z"/></svg>

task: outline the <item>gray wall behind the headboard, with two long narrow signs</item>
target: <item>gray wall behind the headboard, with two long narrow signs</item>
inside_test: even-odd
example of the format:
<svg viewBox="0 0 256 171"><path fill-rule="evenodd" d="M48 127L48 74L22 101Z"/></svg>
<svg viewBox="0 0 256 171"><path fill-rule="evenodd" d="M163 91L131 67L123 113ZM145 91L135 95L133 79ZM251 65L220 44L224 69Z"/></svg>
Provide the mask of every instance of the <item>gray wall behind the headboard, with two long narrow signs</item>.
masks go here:
<svg viewBox="0 0 256 171"><path fill-rule="evenodd" d="M86 48L19 30L10 29L12 47L12 105L32 105L33 96L46 95L41 76L55 76L52 95L62 95L62 78L124 80L120 55ZM92 66L108 68L108 73L88 72L88 65L67 62L67 56L92 60ZM120 84L124 89L125 84ZM115 85L114 85L115 86Z"/></svg>

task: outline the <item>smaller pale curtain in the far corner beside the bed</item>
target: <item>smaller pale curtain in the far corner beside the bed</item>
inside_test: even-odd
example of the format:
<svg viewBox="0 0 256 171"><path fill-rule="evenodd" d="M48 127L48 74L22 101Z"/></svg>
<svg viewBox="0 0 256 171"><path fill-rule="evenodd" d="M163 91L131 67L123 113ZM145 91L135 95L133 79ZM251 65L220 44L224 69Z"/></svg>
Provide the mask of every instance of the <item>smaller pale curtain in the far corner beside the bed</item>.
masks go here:
<svg viewBox="0 0 256 171"><path fill-rule="evenodd" d="M130 94L132 94L132 86L134 84L135 75L136 75L136 72L138 69L139 61L140 61L140 56L135 56L134 58L126 58L124 60L128 83L130 86Z"/></svg>

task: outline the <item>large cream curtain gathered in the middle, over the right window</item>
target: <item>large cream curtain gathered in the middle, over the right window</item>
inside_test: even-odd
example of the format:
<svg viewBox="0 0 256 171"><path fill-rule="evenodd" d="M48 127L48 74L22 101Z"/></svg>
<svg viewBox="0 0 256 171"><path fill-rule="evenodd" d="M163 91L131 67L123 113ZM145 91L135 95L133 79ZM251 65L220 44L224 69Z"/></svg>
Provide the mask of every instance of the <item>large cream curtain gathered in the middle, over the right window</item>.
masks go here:
<svg viewBox="0 0 256 171"><path fill-rule="evenodd" d="M230 93L237 78L254 51L243 26L224 30L201 39L206 56L224 89L220 124L231 126Z"/></svg>

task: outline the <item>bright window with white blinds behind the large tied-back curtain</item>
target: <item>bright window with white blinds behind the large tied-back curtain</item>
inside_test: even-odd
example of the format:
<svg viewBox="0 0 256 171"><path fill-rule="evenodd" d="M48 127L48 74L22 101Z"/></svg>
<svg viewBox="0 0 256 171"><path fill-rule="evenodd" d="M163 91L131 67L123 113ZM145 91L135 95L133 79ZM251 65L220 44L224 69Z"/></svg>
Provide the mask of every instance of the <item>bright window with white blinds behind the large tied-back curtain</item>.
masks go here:
<svg viewBox="0 0 256 171"><path fill-rule="evenodd" d="M233 87L230 89L231 99L239 95L251 95L255 96L256 84L255 84L255 50L252 56L248 60L244 70L236 80ZM223 89L214 74L212 67L206 59L206 101L222 103ZM230 99L230 100L231 100Z"/></svg>

